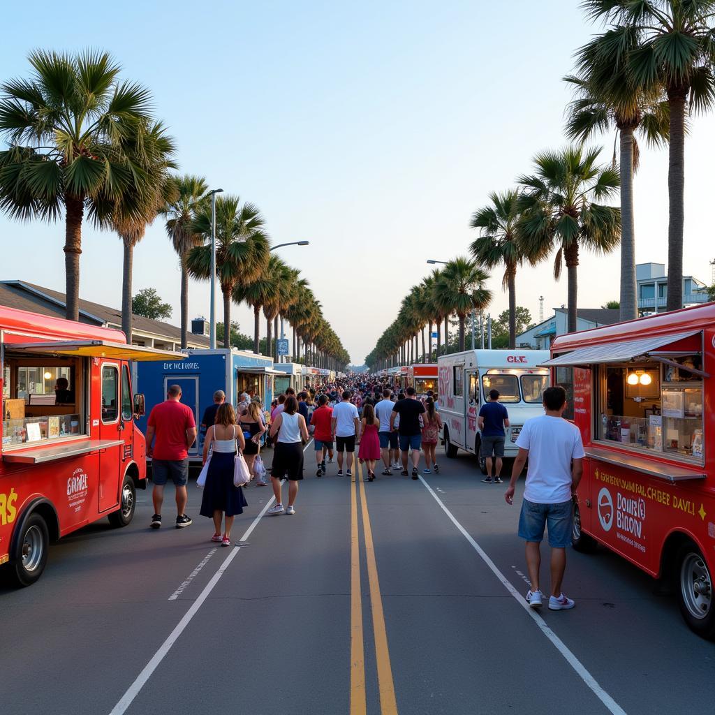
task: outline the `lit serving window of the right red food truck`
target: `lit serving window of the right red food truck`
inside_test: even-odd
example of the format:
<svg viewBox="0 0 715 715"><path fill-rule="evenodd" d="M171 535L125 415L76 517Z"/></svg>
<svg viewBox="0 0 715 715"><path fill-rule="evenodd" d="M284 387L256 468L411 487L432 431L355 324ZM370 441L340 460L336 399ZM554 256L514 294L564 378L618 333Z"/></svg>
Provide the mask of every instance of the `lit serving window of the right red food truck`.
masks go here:
<svg viewBox="0 0 715 715"><path fill-rule="evenodd" d="M701 355L596 369L598 439L702 463ZM695 370L695 372L691 372Z"/></svg>

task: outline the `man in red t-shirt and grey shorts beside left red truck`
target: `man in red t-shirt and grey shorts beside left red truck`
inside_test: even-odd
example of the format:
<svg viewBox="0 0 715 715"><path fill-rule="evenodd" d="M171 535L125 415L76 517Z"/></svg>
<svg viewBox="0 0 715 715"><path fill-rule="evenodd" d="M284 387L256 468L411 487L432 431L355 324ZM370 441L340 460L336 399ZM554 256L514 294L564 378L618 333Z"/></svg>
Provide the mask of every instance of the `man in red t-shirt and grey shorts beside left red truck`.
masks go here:
<svg viewBox="0 0 715 715"><path fill-rule="evenodd" d="M171 385L167 400L154 405L147 422L147 456L152 458L154 482L154 529L162 526L164 485L169 476L176 486L177 529L192 524L185 510L188 499L186 485L189 480L189 447L196 441L196 420L192 409L188 405L182 405L180 400L181 388L179 385Z"/></svg>

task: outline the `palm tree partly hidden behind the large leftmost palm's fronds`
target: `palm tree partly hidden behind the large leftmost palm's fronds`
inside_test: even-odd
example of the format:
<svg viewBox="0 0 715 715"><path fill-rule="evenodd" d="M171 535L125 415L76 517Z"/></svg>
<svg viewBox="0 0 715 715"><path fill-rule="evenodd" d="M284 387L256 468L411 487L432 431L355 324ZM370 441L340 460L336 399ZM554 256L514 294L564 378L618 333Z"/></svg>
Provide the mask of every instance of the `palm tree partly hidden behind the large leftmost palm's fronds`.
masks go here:
<svg viewBox="0 0 715 715"><path fill-rule="evenodd" d="M124 244L122 262L122 331L127 342L132 342L132 273L134 270L134 247L144 238L147 225L173 197L174 183L168 170L174 168L171 157L174 140L169 137L160 122L144 127L129 138L131 146L125 150L132 156L137 167L142 169L142 181L147 189L142 190L137 180L132 179L122 199L117 202L112 215L112 225ZM135 174L139 175L139 172ZM147 180L144 179L146 177Z"/></svg>

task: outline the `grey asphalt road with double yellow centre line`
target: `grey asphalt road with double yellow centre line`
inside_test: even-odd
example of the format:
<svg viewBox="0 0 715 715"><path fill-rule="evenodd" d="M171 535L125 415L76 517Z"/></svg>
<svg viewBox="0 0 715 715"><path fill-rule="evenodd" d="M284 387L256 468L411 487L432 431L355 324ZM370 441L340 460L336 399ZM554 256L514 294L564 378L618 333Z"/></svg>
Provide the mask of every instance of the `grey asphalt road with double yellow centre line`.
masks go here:
<svg viewBox="0 0 715 715"><path fill-rule="evenodd" d="M89 526L34 586L0 586L0 711L711 711L715 645L611 553L569 551L573 611L523 607L521 494L507 506L472 458L362 487L306 458L295 516L258 518L270 488L247 489L248 546L208 541L194 485L193 526L173 528L167 492L152 531L147 490L129 527Z"/></svg>

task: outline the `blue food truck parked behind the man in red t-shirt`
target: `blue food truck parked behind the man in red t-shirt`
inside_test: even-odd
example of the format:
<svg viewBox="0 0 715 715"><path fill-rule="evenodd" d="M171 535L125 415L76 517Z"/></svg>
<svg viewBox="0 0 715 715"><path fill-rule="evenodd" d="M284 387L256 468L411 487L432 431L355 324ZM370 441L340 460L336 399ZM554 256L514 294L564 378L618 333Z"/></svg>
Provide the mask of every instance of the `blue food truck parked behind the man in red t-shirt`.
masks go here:
<svg viewBox="0 0 715 715"><path fill-rule="evenodd" d="M205 350L192 348L182 351L185 360L175 362L134 363L134 385L146 399L146 415L137 420L139 429L146 433L147 416L154 405L166 399L169 385L180 385L182 403L194 410L197 426L204 410L213 403L216 390L226 393L226 400L234 407L241 393L260 395L263 409L270 410L273 399L273 380L284 375L273 369L273 360L245 350ZM285 375L284 375L285 376ZM203 449L202 430L189 450L189 459L200 460Z"/></svg>

